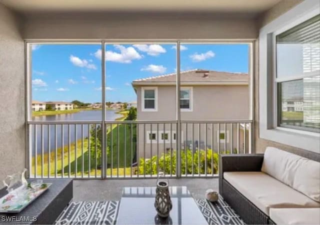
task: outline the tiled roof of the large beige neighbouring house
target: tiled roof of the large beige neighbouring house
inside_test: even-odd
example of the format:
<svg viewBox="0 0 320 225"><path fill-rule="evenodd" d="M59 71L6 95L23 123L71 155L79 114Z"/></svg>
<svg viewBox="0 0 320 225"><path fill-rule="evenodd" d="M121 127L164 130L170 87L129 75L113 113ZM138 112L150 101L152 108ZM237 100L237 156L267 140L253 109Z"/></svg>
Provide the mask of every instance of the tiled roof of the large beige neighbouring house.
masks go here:
<svg viewBox="0 0 320 225"><path fill-rule="evenodd" d="M170 73L160 76L152 76L133 80L132 84L137 83L173 83L176 80L176 73ZM248 82L246 73L230 73L213 70L193 69L180 72L181 83L208 83L208 82Z"/></svg>

